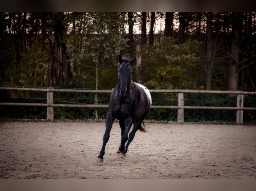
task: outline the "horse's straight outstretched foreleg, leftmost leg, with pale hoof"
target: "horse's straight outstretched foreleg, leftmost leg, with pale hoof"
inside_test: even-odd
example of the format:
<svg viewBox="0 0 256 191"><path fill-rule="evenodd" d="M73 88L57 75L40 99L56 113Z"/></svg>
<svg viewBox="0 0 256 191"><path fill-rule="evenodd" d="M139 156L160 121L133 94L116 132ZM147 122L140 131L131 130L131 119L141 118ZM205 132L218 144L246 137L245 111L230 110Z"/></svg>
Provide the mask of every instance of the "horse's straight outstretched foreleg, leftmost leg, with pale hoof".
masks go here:
<svg viewBox="0 0 256 191"><path fill-rule="evenodd" d="M100 151L100 155L96 159L96 162L98 162L98 163L103 163L103 155L105 154L105 147L106 147L106 144L109 140L109 137L110 137L109 134L110 134L112 124L113 124L114 120L115 120L115 117L113 117L110 112L107 112L106 130L105 130L105 133L104 133L104 136L103 136L103 144L102 144L102 148L101 148L101 151Z"/></svg>

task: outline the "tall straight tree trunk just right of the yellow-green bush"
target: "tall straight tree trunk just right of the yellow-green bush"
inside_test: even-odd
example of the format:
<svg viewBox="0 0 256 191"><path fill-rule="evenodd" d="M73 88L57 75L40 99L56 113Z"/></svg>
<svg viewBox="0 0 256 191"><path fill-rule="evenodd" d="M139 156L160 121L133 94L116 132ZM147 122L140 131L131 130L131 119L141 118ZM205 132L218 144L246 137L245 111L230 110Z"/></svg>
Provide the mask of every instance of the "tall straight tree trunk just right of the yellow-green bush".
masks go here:
<svg viewBox="0 0 256 191"><path fill-rule="evenodd" d="M212 19L213 19L213 13L207 13L206 90L212 90L212 71L213 71Z"/></svg>

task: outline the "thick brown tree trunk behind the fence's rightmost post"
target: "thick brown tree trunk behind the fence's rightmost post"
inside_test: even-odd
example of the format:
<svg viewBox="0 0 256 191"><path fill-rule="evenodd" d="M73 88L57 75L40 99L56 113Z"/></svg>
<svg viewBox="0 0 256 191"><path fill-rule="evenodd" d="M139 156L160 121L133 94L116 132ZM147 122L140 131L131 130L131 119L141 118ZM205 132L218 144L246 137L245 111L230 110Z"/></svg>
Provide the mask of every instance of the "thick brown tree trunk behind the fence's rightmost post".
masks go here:
<svg viewBox="0 0 256 191"><path fill-rule="evenodd" d="M240 16L241 16L241 13L232 13L231 15L232 39L231 39L231 46L230 46L230 62L229 62L229 81L228 81L229 91L238 90ZM233 97L235 95L229 95L229 96Z"/></svg>

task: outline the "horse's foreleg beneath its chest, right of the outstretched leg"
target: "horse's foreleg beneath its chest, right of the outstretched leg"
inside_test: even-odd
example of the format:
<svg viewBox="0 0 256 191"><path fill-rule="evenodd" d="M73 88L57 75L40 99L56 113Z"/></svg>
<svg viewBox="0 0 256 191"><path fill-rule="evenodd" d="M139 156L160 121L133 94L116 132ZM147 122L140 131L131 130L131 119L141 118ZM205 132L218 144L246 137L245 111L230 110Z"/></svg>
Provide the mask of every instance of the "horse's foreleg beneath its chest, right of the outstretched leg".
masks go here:
<svg viewBox="0 0 256 191"><path fill-rule="evenodd" d="M132 126L132 117L129 117L125 121L125 128L124 128L124 132L122 134L121 144L117 151L117 155L119 154L118 156L121 158L125 158L125 153L126 153L125 143L128 140L128 133L131 129L131 126Z"/></svg>

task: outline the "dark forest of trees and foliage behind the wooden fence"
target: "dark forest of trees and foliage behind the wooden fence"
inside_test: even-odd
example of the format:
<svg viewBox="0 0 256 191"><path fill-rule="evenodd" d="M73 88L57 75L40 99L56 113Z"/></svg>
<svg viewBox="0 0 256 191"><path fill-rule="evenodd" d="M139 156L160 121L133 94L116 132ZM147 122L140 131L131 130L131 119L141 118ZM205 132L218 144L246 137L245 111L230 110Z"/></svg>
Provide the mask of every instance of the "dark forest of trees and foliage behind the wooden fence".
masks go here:
<svg viewBox="0 0 256 191"><path fill-rule="evenodd" d="M0 86L112 89L121 54L141 56L133 80L149 89L256 91L255 37L254 12L0 13ZM38 92L0 95L3 102L46 102ZM175 96L153 94L153 104L176 105ZM107 104L109 95L54 93L54 98L54 103ZM185 100L186 105L236 106L226 95L193 94ZM245 100L255 105L254 96ZM0 109L2 118L46 118L41 107ZM185 120L229 121L234 112L187 110ZM105 113L54 108L54 118L104 118ZM244 115L251 121L256 113ZM151 109L148 119L175 117L175 110Z"/></svg>

